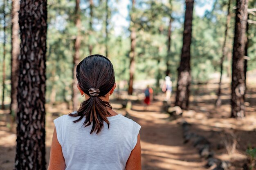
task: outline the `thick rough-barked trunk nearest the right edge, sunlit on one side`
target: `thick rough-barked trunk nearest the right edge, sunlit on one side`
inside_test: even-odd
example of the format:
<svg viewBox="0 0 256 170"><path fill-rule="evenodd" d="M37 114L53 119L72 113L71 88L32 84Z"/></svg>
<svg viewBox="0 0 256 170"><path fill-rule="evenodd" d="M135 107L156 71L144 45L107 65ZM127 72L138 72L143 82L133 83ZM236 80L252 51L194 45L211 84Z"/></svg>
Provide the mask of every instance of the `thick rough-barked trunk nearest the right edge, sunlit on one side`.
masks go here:
<svg viewBox="0 0 256 170"><path fill-rule="evenodd" d="M245 31L247 24L248 0L236 0L236 24L234 33L232 83L231 83L231 117L245 117Z"/></svg>

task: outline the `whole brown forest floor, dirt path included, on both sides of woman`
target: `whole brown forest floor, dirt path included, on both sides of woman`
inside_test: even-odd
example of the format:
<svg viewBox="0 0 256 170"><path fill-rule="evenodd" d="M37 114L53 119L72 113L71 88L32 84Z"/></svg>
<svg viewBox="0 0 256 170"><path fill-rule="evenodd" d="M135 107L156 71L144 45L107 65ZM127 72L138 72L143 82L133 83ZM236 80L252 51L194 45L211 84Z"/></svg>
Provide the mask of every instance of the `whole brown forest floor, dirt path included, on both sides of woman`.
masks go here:
<svg viewBox="0 0 256 170"><path fill-rule="evenodd" d="M137 95L132 100L128 110L129 118L141 125L142 170L212 170L205 168L207 163L201 158L192 143L184 144L182 122L187 121L191 132L206 137L211 142L211 150L215 157L229 161L229 170L242 170L247 162L246 149L256 148L256 82L248 83L246 97L246 117L232 119L230 117L230 83L222 86L222 105L216 107L216 89L218 84L210 82L204 85L191 86L189 110L175 119L162 111L163 95L155 96L155 101L144 110L141 102L143 95ZM121 95L122 99L126 98ZM171 102L174 102L172 95ZM126 114L121 109L122 99L113 100L112 106L119 113ZM49 152L54 128L53 119L62 114L72 112L66 104L46 105L46 160ZM0 110L0 170L11 170L16 152L15 128L9 124L8 110ZM14 130L10 130L14 129Z"/></svg>

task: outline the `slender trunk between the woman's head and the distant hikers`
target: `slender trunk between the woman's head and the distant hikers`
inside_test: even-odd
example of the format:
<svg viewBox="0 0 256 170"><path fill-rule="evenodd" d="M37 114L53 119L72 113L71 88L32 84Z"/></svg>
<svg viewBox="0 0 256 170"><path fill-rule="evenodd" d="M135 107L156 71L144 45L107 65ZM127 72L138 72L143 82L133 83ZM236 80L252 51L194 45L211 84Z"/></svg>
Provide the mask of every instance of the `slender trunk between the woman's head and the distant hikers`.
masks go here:
<svg viewBox="0 0 256 170"><path fill-rule="evenodd" d="M129 78L129 88L128 88L128 95L132 95L133 92L133 80L134 80L134 73L135 73L135 45L136 45L136 32L134 27L135 22L135 0L132 0L132 11L130 14L130 39L131 39L131 50L130 50L130 78Z"/></svg>

